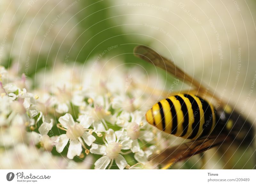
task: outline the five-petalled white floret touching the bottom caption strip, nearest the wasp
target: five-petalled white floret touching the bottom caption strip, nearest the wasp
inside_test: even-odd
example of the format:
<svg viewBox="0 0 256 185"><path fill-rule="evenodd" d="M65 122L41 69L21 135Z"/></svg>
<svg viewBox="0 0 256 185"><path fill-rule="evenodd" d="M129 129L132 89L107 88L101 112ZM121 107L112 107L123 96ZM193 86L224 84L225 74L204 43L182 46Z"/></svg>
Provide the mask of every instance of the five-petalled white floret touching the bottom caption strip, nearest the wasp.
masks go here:
<svg viewBox="0 0 256 185"><path fill-rule="evenodd" d="M95 169L106 169L111 162L111 165L109 166L110 168L114 160L119 169L124 169L124 167L127 166L127 162L120 153L122 149L129 149L127 143L119 142L118 139L116 140L116 135L113 129L108 129L106 131L105 138L107 141L105 145L93 143L90 149L91 153L103 155L103 157L95 162Z"/></svg>

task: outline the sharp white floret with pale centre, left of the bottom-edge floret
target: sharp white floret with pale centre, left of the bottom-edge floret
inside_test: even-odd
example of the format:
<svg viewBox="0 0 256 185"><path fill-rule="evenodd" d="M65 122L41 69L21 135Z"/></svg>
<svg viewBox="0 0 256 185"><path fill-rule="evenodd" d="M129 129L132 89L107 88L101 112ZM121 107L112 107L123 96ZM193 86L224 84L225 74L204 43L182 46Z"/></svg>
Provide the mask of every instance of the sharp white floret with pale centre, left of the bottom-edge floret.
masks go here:
<svg viewBox="0 0 256 185"><path fill-rule="evenodd" d="M56 150L57 152L62 152L64 147L68 144L68 159L73 159L76 155L79 156L82 153L82 146L86 149L84 142L91 146L92 143L96 140L94 136L92 136L88 131L85 131L86 125L85 123L79 124L74 121L72 115L65 114L59 118L59 122L63 129L67 132L66 134L61 134L57 139ZM83 138L83 140L81 139ZM84 142L83 142L84 141Z"/></svg>

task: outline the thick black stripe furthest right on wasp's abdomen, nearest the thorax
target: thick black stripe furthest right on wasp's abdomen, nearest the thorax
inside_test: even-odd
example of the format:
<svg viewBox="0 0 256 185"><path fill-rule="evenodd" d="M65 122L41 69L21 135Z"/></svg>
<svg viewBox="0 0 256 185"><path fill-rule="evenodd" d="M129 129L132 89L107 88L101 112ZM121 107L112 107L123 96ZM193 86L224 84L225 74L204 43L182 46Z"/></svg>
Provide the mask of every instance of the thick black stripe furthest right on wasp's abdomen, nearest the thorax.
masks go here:
<svg viewBox="0 0 256 185"><path fill-rule="evenodd" d="M210 131L212 128L213 114L212 114L212 109L210 105L207 103L207 101L201 98L200 98L200 101L203 105L203 111L204 111L203 133L201 136L206 136L210 134Z"/></svg>

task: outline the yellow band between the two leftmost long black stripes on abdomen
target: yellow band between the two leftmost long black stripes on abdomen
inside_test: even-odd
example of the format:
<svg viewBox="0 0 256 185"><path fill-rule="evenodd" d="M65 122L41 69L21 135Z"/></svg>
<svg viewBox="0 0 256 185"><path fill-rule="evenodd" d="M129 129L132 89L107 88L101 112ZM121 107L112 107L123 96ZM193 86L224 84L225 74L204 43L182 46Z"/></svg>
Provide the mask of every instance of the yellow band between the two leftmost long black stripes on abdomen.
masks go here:
<svg viewBox="0 0 256 185"><path fill-rule="evenodd" d="M165 130L164 132L170 134L172 131L172 113L171 113L171 107L167 100L161 100L160 103L163 106L164 110L164 118L165 118Z"/></svg>

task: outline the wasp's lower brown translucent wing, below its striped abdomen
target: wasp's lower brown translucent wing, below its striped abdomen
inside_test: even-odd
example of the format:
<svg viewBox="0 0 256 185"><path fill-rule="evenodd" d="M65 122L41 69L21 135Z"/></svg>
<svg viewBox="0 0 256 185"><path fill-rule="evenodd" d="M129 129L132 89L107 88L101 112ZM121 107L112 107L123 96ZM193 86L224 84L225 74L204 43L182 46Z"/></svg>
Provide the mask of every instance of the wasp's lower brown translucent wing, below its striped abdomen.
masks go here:
<svg viewBox="0 0 256 185"><path fill-rule="evenodd" d="M175 160L181 161L187 159L188 157L199 154L223 143L227 143L228 141L229 138L225 135L208 136L206 138L166 148L159 154L151 155L149 160L153 164L162 164L164 165L163 169L167 169L172 166Z"/></svg>

